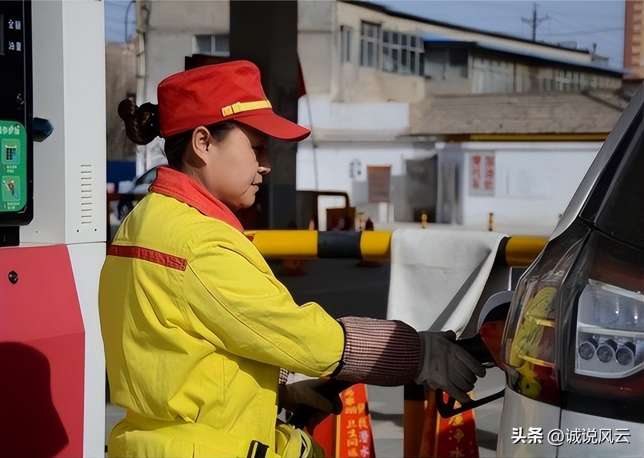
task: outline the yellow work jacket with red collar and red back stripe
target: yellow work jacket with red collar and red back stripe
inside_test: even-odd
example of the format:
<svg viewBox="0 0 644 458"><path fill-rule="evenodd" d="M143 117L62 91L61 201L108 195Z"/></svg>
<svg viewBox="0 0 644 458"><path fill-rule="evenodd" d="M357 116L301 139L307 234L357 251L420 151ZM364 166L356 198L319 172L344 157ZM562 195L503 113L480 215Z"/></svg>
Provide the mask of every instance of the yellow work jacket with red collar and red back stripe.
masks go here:
<svg viewBox="0 0 644 458"><path fill-rule="evenodd" d="M345 344L227 207L165 167L115 235L99 309L111 402L127 409L110 456L275 456L279 368L327 376Z"/></svg>

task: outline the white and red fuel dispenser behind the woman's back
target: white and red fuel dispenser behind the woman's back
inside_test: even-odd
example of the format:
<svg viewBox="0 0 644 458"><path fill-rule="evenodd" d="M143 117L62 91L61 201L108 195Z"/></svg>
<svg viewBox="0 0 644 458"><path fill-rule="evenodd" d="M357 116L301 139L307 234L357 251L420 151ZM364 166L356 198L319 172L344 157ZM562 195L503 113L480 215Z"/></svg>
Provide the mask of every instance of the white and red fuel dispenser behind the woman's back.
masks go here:
<svg viewBox="0 0 644 458"><path fill-rule="evenodd" d="M3 457L104 454L103 7L0 0Z"/></svg>

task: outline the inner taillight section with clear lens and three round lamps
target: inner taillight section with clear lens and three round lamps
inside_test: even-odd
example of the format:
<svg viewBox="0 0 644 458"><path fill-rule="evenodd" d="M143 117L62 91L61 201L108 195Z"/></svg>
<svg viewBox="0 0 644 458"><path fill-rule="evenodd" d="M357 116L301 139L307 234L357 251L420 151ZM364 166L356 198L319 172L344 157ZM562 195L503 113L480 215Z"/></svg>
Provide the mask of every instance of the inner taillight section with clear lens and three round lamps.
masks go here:
<svg viewBox="0 0 644 458"><path fill-rule="evenodd" d="M644 422L644 253L593 231L562 291L562 407Z"/></svg>

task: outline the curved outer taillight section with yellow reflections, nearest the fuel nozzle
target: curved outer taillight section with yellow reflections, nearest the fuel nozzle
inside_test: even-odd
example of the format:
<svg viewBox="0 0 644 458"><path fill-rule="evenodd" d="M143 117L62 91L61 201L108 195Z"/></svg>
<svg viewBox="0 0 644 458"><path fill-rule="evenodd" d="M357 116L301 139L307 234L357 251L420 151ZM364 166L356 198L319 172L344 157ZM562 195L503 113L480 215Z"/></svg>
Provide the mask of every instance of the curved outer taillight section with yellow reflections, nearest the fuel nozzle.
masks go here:
<svg viewBox="0 0 644 458"><path fill-rule="evenodd" d="M503 336L507 385L528 398L558 404L558 295L589 230L575 223L550 241L519 280Z"/></svg>

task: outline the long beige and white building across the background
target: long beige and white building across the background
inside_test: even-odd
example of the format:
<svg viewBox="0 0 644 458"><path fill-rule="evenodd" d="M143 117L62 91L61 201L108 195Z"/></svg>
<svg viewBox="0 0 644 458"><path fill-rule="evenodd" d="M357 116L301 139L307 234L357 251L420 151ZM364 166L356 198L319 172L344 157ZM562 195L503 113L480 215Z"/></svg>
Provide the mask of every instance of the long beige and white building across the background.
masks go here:
<svg viewBox="0 0 644 458"><path fill-rule="evenodd" d="M146 71L140 100L156 102L156 85L184 69L186 57L227 55L229 4L148 1L144 5ZM357 210L375 222L412 221L425 211L430 221L435 217L440 222L486 226L488 213L495 212L498 223L505 214L512 214L512 224L518 219L516 224L545 222L554 226L620 111L618 102L600 98L620 88L621 73L598 66L589 51L341 0L300 1L298 31L298 54L307 90L299 101L299 122L312 129L312 136L298 148L298 190L346 191ZM587 97L594 103L591 111L601 115L594 117L595 124L587 125L586 130L569 132L568 125L561 125L544 131L538 126L544 118L531 118L534 113L528 98L520 98L515 111L532 120L528 125L536 130L526 129L526 124L500 131L481 130L475 128L477 120L471 115L464 115L470 116L471 122L460 124L459 132L419 127L423 120L446 116L445 104L441 115L431 109L446 95L460 95L464 104L451 107L450 119L458 119L459 110L464 113L469 106L469 98L481 93L539 93L543 96L538 99L544 103L537 116L548 116L544 106L556 109L561 107L556 103L562 103L548 94L574 96L582 90L591 91L592 99ZM548 100L553 103L549 105ZM567 104L569 98L563 100ZM414 108L419 104L424 109ZM617 106L611 109L607 106L611 104ZM482 117L488 116L482 113ZM545 121L544 125L552 124ZM513 125L511 119L506 124ZM520 136L535 132L540 136ZM487 136L481 138L482 134ZM464 140L467 142L461 143ZM509 140L516 141L507 143ZM452 208L458 211L447 217L444 199L452 191L444 189L444 164L459 154L478 150L498 154L494 194L469 200L469 191L462 189L459 194L455 188L460 200L457 207L452 203ZM160 145L152 145L142 152L140 169L149 167L161 151ZM505 152L518 155L515 165L506 163ZM461 162L463 173L465 161ZM390 205L369 203L369 166L391 167ZM523 170L518 178L522 186L533 183L532 189L518 192L507 185L517 177L518 169ZM464 176L455 179L454 185L466 183ZM501 183L503 179L509 181ZM544 193L545 187L548 192ZM537 195L540 204L535 206ZM325 206L341 205L341 199L327 199ZM531 212L515 209L531 205ZM323 221L320 225L325 226Z"/></svg>

